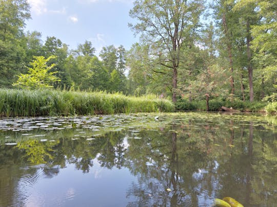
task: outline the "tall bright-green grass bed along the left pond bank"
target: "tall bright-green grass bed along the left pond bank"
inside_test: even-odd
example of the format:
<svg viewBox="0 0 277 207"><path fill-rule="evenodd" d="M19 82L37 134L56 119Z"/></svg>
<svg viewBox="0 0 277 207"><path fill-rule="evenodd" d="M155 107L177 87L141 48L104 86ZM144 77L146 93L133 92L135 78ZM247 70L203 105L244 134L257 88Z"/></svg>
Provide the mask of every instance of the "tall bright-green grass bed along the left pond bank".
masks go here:
<svg viewBox="0 0 277 207"><path fill-rule="evenodd" d="M131 112L171 112L172 102L154 96L104 92L0 89L0 116L57 116Z"/></svg>

